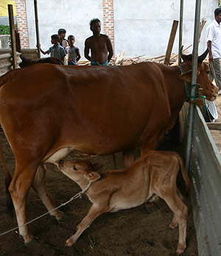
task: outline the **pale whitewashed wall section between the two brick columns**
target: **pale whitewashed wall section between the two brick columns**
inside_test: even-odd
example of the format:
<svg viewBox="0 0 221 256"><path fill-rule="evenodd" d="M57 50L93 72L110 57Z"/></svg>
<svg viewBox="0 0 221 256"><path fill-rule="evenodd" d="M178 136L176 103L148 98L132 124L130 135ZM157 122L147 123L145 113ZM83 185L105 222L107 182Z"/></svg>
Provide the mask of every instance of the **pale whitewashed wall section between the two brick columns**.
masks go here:
<svg viewBox="0 0 221 256"><path fill-rule="evenodd" d="M29 48L36 46L34 1L26 1L27 23L29 31ZM51 35L64 28L66 39L74 35L75 45L80 48L83 56L85 38L92 35L89 22L91 18L102 20L102 0L38 0L38 23L41 49L46 51L51 44ZM45 56L49 57L49 56Z"/></svg>

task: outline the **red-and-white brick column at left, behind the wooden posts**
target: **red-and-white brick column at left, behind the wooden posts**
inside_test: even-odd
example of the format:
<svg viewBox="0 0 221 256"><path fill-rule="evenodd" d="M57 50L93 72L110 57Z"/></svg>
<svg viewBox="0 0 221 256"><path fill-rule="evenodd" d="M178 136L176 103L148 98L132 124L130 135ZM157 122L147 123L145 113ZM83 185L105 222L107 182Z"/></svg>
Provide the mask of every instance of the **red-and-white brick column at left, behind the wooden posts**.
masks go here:
<svg viewBox="0 0 221 256"><path fill-rule="evenodd" d="M29 37L27 30L27 15L25 0L15 0L18 32L20 34L21 48L29 48Z"/></svg>

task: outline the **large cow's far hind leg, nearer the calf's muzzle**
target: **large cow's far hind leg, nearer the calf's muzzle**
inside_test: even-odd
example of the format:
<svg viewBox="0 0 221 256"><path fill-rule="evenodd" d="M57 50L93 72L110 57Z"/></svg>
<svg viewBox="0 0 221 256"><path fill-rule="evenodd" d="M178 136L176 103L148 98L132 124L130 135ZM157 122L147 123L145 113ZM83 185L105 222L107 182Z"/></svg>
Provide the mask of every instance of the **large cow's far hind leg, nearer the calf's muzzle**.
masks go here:
<svg viewBox="0 0 221 256"><path fill-rule="evenodd" d="M45 175L46 170L44 170L43 167L39 165L38 170L35 174L35 179L32 183L32 187L38 194L38 196L41 198L41 201L45 205L46 209L50 211L56 208L56 205L54 201L52 201L52 198L49 195L49 193L47 192ZM57 220L60 220L63 217L63 213L60 212L60 210L54 210L50 212L50 215L55 216Z"/></svg>

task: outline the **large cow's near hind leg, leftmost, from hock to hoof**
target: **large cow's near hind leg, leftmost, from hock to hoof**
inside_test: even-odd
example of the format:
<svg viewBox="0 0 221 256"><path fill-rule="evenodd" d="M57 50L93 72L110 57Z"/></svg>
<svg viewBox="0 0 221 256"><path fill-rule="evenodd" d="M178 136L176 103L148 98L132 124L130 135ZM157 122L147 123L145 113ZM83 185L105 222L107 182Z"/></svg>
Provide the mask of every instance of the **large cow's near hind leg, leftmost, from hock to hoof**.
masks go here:
<svg viewBox="0 0 221 256"><path fill-rule="evenodd" d="M24 243L32 241L32 235L29 232L26 215L26 201L29 188L35 178L37 167L15 164L15 173L9 186L9 192L13 199L15 214L19 227L19 234L24 238ZM24 225L24 226L22 226Z"/></svg>

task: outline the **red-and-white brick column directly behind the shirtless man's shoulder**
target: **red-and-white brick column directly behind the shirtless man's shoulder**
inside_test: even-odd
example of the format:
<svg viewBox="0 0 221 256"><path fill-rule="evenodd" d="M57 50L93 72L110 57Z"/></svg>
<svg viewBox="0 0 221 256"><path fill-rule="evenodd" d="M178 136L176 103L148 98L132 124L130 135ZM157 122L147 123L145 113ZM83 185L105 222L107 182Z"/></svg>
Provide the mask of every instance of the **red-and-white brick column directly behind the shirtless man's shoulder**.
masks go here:
<svg viewBox="0 0 221 256"><path fill-rule="evenodd" d="M113 0L103 0L104 33L111 39L114 51Z"/></svg>

